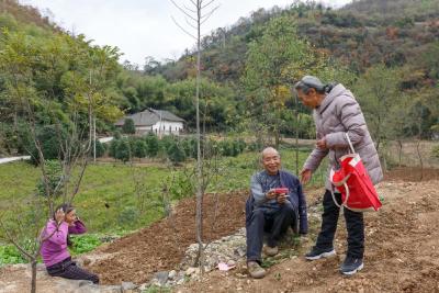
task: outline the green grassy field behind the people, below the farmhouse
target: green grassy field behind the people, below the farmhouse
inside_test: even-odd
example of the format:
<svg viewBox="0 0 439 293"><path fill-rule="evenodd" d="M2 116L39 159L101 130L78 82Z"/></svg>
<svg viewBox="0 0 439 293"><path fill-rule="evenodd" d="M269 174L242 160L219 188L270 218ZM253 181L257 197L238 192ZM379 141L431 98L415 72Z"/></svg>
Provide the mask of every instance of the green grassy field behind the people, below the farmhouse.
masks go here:
<svg viewBox="0 0 439 293"><path fill-rule="evenodd" d="M309 150L299 154L300 168ZM295 153L281 149L284 169L295 172ZM214 172L207 192L228 192L248 189L250 176L261 169L259 154L244 153L238 157L222 158L218 171ZM103 235L125 235L132 230L150 225L164 216L160 204L164 184L171 188L172 202L191 196L190 183L184 181L184 173L193 168L194 162L185 167L160 166L131 167L121 162L90 165L85 173L79 193L75 198L77 214L88 226L91 235L74 238L76 246L72 255L92 250L101 244ZM0 213L14 216L11 211L21 210L26 213L32 225L32 204L35 187L41 180L40 169L26 162L0 165ZM312 184L320 187L324 182L324 168L313 178ZM134 179L136 178L136 179ZM135 182L142 183L140 191L145 199L145 209L139 211L139 202L135 192ZM182 190L182 187L185 188ZM189 188L188 188L189 185ZM176 192L177 191L177 192ZM178 195L176 195L178 194ZM11 217L13 218L13 217ZM31 221L31 222L29 222ZM43 218L44 221L44 218ZM42 222L44 223L44 222ZM1 238L2 232L0 232ZM0 261L21 262L16 251L8 246L0 246Z"/></svg>

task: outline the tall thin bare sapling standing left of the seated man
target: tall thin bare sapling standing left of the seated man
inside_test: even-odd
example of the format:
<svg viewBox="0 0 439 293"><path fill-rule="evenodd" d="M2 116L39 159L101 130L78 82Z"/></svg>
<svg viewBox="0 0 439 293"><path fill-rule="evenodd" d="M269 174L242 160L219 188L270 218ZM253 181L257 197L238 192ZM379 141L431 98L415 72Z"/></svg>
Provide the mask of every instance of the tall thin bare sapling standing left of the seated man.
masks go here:
<svg viewBox="0 0 439 293"><path fill-rule="evenodd" d="M182 24L173 22L187 35L196 42L196 241L199 244L200 268L204 273L204 253L203 253L203 160L201 154L201 129L200 129L200 83L201 83L201 27L219 8L215 0L189 0L185 4L179 4L175 0L170 0L172 4L183 14L185 20L185 29ZM194 33L193 33L194 32Z"/></svg>

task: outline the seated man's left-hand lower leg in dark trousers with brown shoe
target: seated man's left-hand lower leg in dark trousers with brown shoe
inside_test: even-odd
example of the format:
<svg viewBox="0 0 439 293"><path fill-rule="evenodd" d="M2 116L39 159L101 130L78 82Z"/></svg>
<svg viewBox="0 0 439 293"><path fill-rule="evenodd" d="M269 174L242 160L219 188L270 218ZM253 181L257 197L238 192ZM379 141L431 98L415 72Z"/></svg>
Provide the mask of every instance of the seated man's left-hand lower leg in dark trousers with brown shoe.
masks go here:
<svg viewBox="0 0 439 293"><path fill-rule="evenodd" d="M247 268L248 273L255 279L266 275L266 270L260 267L262 261L261 252L263 245L263 211L255 209L246 223L247 234Z"/></svg>

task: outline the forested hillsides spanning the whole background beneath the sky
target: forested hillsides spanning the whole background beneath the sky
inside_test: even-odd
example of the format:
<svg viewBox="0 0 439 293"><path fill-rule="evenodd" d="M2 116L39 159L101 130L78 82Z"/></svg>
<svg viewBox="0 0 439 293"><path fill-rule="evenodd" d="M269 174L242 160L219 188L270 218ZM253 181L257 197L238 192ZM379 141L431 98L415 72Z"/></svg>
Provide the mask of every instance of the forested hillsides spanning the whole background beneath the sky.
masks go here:
<svg viewBox="0 0 439 293"><path fill-rule="evenodd" d="M193 129L193 52L166 64L146 57L139 69L120 65L117 48L71 36L33 8L7 0L0 9L3 153L24 151L19 81L35 97L42 128L66 121L71 99L92 93L98 133L111 134L114 120L146 108L169 110ZM311 113L290 92L313 74L352 89L375 140L430 138L439 132L438 19L435 0L362 0L339 10L294 2L255 11L203 38L203 125L313 138Z"/></svg>

